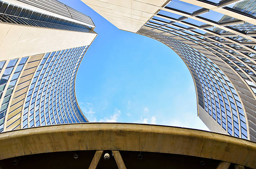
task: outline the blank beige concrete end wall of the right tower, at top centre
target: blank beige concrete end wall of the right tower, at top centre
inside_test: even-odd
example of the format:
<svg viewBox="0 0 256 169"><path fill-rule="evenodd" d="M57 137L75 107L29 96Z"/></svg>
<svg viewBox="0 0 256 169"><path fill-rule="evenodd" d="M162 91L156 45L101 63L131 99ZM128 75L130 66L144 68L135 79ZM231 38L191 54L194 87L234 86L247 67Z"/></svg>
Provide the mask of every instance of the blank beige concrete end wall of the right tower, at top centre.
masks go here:
<svg viewBox="0 0 256 169"><path fill-rule="evenodd" d="M136 33L166 0L82 0L121 30Z"/></svg>

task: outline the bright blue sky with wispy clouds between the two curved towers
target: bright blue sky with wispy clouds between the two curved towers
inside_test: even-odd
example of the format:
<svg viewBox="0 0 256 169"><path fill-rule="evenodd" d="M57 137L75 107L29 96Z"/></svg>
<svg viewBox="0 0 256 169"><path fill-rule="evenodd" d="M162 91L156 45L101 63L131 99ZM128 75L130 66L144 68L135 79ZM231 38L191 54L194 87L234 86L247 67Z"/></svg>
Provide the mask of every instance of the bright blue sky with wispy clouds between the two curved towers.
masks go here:
<svg viewBox="0 0 256 169"><path fill-rule="evenodd" d="M88 15L98 33L80 64L76 96L90 122L125 122L208 130L197 117L195 86L166 45L119 30L80 0L60 2Z"/></svg>

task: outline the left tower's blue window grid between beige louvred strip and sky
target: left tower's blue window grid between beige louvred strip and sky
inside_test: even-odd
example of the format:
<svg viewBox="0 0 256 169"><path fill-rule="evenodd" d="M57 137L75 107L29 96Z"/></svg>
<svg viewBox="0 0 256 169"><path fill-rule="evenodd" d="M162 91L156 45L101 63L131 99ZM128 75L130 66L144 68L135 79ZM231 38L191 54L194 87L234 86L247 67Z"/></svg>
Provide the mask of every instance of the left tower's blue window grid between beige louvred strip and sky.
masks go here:
<svg viewBox="0 0 256 169"><path fill-rule="evenodd" d="M26 96L22 128L87 122L74 94L75 74L86 49L46 53Z"/></svg>

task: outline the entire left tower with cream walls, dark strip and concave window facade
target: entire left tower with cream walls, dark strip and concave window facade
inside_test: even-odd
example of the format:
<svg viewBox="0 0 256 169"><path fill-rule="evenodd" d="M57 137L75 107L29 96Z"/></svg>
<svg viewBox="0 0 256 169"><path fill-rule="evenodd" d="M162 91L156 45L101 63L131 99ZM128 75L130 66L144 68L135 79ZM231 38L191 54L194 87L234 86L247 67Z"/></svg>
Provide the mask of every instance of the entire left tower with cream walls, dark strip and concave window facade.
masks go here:
<svg viewBox="0 0 256 169"><path fill-rule="evenodd" d="M0 132L87 122L74 83L94 28L56 0L0 0Z"/></svg>

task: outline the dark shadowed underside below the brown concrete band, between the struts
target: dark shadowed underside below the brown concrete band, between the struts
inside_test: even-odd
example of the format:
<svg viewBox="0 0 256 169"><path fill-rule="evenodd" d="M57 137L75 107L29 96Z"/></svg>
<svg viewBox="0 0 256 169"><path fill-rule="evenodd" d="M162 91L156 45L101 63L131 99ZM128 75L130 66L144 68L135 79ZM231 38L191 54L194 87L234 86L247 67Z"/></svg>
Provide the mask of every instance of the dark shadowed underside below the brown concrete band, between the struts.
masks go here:
<svg viewBox="0 0 256 169"><path fill-rule="evenodd" d="M74 159L75 153L78 154L77 159ZM120 151L127 169L216 169L220 163L219 160L202 157L154 152L141 152L143 158L139 159L139 153L139 151ZM0 160L0 167L2 169L34 169L35 166L36 169L88 169L94 154L95 151L92 150L33 154ZM118 169L112 155L109 160L105 160L102 156L97 169ZM234 164L231 164L230 169L233 168Z"/></svg>

